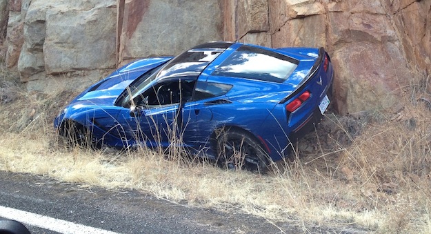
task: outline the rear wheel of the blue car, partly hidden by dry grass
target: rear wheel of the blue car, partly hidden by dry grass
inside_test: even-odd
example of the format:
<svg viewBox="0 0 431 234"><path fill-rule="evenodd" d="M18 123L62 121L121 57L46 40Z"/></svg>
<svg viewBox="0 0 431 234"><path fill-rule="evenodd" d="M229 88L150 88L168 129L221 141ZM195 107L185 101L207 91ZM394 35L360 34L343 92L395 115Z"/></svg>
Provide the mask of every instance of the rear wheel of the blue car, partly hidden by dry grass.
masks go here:
<svg viewBox="0 0 431 234"><path fill-rule="evenodd" d="M221 168L253 172L268 170L268 154L245 130L225 128L217 137L217 164Z"/></svg>

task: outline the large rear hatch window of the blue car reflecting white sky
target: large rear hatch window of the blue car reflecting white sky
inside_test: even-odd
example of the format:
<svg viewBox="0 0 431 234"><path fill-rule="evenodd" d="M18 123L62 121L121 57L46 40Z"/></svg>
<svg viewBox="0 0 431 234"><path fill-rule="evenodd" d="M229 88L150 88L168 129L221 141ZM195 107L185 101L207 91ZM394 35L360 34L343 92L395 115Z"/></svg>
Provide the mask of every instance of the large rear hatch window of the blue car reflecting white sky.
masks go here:
<svg viewBox="0 0 431 234"><path fill-rule="evenodd" d="M212 75L282 83L297 68L298 63L296 59L277 52L241 46Z"/></svg>

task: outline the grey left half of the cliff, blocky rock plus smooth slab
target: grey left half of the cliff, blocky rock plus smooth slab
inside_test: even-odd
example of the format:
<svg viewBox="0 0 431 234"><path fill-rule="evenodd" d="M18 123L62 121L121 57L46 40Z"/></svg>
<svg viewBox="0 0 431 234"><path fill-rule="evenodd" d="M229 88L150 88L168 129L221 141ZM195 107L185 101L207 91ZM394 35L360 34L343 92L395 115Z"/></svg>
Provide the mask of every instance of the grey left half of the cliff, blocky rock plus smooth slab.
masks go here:
<svg viewBox="0 0 431 234"><path fill-rule="evenodd" d="M0 10L6 4L3 59L28 90L83 89L128 61L223 35L217 0L0 0Z"/></svg>

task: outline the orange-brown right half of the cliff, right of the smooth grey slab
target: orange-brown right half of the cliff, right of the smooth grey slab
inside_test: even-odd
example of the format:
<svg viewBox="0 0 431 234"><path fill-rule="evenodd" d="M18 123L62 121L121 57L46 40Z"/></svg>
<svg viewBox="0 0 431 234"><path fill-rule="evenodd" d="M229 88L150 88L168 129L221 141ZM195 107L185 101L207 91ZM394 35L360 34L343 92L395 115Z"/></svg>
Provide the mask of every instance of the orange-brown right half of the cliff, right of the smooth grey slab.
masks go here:
<svg viewBox="0 0 431 234"><path fill-rule="evenodd" d="M225 40L274 48L323 46L336 70L339 113L390 108L412 77L412 63L430 72L431 0L273 0L268 29L243 20L254 14L241 10L244 5L225 6ZM245 36L240 25L247 26Z"/></svg>

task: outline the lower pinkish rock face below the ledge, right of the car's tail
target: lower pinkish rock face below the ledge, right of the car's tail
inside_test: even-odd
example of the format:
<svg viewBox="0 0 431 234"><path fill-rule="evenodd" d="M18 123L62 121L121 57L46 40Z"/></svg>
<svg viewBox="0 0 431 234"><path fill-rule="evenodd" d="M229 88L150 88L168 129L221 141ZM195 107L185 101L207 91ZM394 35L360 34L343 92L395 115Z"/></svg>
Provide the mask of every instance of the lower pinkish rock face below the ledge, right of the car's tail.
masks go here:
<svg viewBox="0 0 431 234"><path fill-rule="evenodd" d="M332 52L332 62L334 101L343 114L394 107L411 77L397 42L346 43Z"/></svg>

